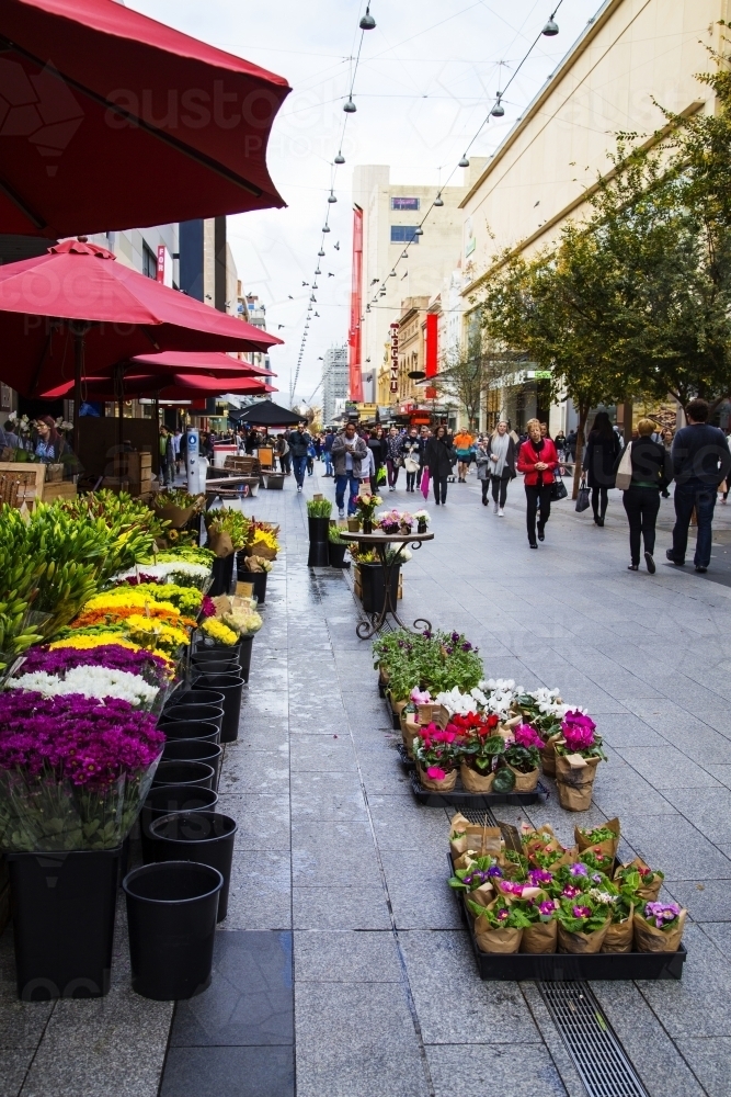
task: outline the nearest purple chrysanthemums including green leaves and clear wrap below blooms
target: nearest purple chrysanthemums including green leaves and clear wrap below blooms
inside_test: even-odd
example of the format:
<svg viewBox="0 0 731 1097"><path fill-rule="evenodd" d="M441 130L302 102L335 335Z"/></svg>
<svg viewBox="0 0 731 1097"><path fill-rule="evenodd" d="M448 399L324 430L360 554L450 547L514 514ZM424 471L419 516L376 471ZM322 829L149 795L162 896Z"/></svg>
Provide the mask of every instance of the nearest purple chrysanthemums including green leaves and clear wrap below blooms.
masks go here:
<svg viewBox="0 0 731 1097"><path fill-rule="evenodd" d="M0 693L0 848L119 846L162 754L155 725L115 698Z"/></svg>

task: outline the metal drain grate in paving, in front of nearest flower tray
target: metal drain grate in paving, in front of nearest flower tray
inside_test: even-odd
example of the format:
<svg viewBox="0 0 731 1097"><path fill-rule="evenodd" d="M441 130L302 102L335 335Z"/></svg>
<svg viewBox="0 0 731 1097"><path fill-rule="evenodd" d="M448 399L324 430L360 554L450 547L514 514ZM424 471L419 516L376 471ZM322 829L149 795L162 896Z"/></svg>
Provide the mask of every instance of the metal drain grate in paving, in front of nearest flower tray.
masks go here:
<svg viewBox="0 0 731 1097"><path fill-rule="evenodd" d="M589 1097L648 1097L589 983L538 983Z"/></svg>

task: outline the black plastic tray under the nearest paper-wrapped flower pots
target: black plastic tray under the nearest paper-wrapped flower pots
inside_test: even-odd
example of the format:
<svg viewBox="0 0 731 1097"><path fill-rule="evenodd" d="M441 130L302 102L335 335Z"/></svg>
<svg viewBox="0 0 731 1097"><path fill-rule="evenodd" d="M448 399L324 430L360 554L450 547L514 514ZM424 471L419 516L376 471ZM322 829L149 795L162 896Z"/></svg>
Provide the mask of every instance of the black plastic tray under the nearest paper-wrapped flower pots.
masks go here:
<svg viewBox="0 0 731 1097"><path fill-rule="evenodd" d="M447 853L449 875L453 874L452 857ZM447 886L449 886L447 884ZM566 952L549 952L529 955L523 952L483 952L477 943L472 919L467 911L462 892L449 887L459 907L472 951L477 970L482 980L510 981L540 980L544 983L575 983L583 980L627 980L627 979L682 979L683 964L687 951L681 945L677 952L596 952L591 955L574 955Z"/></svg>

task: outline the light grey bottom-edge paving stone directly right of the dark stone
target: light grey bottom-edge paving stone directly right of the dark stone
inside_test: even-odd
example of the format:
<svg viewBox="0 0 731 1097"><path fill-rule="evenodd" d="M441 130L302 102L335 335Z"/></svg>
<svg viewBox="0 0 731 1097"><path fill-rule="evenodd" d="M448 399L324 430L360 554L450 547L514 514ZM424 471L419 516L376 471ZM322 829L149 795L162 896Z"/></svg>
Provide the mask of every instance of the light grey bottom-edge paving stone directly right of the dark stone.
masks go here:
<svg viewBox="0 0 731 1097"><path fill-rule="evenodd" d="M296 984L295 1026L298 1097L426 1097L400 984Z"/></svg>

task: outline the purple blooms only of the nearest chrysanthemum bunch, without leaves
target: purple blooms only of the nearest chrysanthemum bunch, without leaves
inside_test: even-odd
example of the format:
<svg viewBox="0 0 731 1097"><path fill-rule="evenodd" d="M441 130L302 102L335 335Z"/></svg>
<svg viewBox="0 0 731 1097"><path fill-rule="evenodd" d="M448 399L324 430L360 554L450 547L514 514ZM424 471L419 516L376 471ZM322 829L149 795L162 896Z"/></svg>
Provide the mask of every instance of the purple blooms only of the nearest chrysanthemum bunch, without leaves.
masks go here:
<svg viewBox="0 0 731 1097"><path fill-rule="evenodd" d="M160 756L165 737L155 722L116 698L9 690L0 693L0 769L107 788Z"/></svg>

